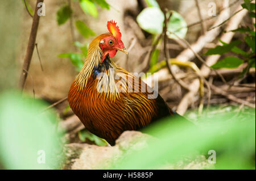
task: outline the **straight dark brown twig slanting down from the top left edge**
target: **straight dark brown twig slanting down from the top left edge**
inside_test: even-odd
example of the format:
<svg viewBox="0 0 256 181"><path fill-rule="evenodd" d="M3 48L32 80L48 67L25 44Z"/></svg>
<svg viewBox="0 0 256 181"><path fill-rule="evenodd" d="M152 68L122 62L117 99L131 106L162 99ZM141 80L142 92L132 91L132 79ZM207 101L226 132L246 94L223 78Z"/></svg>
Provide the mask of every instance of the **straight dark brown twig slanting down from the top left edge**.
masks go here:
<svg viewBox="0 0 256 181"><path fill-rule="evenodd" d="M33 51L34 51L34 48L35 48L36 33L38 32L38 24L39 24L39 18L40 18L40 16L37 13L38 9L40 8L40 7L38 7L38 3L43 2L43 1L44 0L36 1L35 14L33 16L30 38L28 40L28 45L27 45L26 57L24 58L22 73L21 73L20 79L19 79L19 88L21 90L23 90L23 88L24 88L24 84L25 84L26 79L27 79L27 72L28 72L28 69L30 67L32 54L33 54Z"/></svg>

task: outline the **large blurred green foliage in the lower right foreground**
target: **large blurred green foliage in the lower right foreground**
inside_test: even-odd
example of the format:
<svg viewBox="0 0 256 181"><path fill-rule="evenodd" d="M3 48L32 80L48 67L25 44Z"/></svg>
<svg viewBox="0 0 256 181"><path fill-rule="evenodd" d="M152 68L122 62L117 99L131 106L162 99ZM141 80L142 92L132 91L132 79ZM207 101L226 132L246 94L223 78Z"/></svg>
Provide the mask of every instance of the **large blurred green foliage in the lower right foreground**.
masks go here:
<svg viewBox="0 0 256 181"><path fill-rule="evenodd" d="M217 114L209 111L207 115L199 119L197 128L187 127L179 120L175 124L174 117L148 127L144 132L158 135L158 139L148 141L145 149L127 151L129 154L111 169L159 169L198 154L208 158L209 150L216 151L212 169L255 169L255 110L222 110Z"/></svg>

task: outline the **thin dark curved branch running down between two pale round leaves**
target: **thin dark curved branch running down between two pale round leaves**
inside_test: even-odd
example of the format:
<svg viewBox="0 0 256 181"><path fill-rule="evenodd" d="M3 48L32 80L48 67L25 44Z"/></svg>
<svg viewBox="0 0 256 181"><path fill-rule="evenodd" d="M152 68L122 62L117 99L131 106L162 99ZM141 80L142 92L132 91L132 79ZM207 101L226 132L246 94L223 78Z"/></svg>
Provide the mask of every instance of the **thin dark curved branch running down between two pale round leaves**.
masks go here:
<svg viewBox="0 0 256 181"><path fill-rule="evenodd" d="M169 70L169 73L172 75L172 77L174 78L174 80L181 86L183 87L185 90L190 90L189 87L183 82L181 81L181 79L178 79L176 77L176 75L172 72L172 69L171 69L171 64L169 62L169 59L170 59L170 54L169 54L169 50L167 49L167 41L168 41L168 37L167 37L167 24L170 20L172 16L172 12L170 12L170 15L168 16L167 18L167 10L166 12L164 13L164 27L163 27L163 33L164 33L164 57L166 59L166 65L167 65L167 68Z"/></svg>

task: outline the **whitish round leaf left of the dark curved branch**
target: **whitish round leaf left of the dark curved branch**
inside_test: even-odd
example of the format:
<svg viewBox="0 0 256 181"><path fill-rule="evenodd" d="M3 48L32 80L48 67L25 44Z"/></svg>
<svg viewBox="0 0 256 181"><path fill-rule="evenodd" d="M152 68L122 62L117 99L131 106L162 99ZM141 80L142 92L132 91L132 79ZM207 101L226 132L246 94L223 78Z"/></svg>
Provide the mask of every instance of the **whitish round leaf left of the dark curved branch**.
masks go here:
<svg viewBox="0 0 256 181"><path fill-rule="evenodd" d="M139 26L151 34L163 31L164 14L158 7L147 7L137 16Z"/></svg>

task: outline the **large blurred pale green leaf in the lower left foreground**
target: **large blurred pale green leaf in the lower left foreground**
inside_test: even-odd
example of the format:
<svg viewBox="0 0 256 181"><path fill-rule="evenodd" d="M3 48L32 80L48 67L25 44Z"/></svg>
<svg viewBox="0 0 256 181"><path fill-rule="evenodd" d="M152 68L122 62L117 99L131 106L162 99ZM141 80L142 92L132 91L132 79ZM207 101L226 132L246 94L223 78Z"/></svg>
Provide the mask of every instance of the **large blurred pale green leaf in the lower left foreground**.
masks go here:
<svg viewBox="0 0 256 181"><path fill-rule="evenodd" d="M57 169L61 134L50 110L41 100L22 96L19 92L0 95L0 160L5 169ZM45 153L45 163L43 156Z"/></svg>

